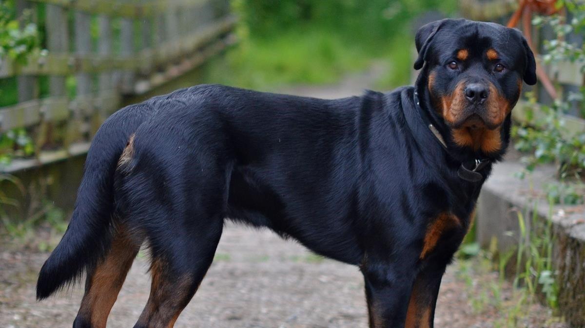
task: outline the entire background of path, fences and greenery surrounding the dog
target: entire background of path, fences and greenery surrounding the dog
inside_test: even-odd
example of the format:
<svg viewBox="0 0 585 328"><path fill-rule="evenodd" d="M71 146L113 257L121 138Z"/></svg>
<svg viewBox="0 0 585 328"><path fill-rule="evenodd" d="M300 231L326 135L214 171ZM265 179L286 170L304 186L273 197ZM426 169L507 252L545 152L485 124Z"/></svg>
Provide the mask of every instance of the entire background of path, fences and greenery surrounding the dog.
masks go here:
<svg viewBox="0 0 585 328"><path fill-rule="evenodd" d="M437 327L585 326L585 5L554 0L2 0L0 327L70 326L74 288L34 298L85 153L126 104L199 83L325 98L414 81L414 33L442 18L518 27L539 63L513 142L443 279ZM108 326L132 326L147 257ZM267 231L228 225L178 327L366 327L363 282Z"/></svg>

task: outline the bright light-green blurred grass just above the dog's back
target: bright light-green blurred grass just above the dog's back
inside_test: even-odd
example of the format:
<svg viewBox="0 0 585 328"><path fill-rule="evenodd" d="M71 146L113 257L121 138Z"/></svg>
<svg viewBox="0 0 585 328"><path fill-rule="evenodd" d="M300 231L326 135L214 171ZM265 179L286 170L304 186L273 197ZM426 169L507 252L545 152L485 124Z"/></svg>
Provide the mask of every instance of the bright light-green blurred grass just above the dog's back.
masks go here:
<svg viewBox="0 0 585 328"><path fill-rule="evenodd" d="M397 37L380 44L363 44L327 29L288 30L274 37L244 39L238 47L209 65L212 82L260 90L305 84L338 82L344 75L367 69L373 60L390 61L392 74L381 86L408 82L411 37Z"/></svg>

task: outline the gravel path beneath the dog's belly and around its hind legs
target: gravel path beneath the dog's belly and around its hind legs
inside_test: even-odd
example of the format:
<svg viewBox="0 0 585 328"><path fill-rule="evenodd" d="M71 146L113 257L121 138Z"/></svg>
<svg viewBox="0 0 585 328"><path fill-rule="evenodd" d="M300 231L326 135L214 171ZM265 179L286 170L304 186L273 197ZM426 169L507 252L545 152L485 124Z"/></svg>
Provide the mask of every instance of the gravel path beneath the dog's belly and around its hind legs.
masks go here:
<svg viewBox="0 0 585 328"><path fill-rule="evenodd" d="M36 274L46 256L2 254L0 327L65 327L73 322L81 287L35 301ZM136 322L149 293L146 263L135 261L109 327ZM230 224L176 327L365 327L366 319L357 268L321 259L269 231Z"/></svg>

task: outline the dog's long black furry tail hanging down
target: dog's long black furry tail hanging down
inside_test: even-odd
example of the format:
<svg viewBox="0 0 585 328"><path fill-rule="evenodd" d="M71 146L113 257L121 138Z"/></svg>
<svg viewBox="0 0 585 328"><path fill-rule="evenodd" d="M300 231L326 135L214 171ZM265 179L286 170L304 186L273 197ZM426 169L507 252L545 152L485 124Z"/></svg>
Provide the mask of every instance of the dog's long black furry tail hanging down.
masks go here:
<svg viewBox="0 0 585 328"><path fill-rule="evenodd" d="M126 107L109 117L95 134L67 231L40 270L37 299L47 298L80 279L108 252L113 235L116 165L130 134L146 114L140 105Z"/></svg>

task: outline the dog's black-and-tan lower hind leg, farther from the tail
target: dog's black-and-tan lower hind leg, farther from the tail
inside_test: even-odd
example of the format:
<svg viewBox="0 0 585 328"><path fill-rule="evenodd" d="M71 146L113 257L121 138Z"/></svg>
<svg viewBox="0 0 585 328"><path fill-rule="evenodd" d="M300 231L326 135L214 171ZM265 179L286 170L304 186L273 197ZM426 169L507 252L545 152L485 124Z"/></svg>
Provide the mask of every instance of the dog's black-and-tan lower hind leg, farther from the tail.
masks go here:
<svg viewBox="0 0 585 328"><path fill-rule="evenodd" d="M153 250L150 296L135 328L173 327L211 266L222 229L222 218L210 219L167 239L162 254Z"/></svg>

